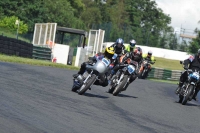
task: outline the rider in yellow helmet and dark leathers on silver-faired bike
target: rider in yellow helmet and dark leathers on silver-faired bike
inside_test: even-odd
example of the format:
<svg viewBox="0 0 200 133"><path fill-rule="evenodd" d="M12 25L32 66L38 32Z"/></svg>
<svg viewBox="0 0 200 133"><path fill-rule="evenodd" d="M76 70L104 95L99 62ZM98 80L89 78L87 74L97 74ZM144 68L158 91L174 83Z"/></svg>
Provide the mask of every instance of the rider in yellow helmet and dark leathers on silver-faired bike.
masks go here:
<svg viewBox="0 0 200 133"><path fill-rule="evenodd" d="M88 61L83 62L81 64L80 70L78 71L77 74L74 74L73 77L77 78L79 75L82 75L86 70L86 65L96 63L97 60L101 60L103 58L107 58L107 59L111 60L113 55L114 55L114 48L113 47L106 47L104 53L97 53L94 57L89 58ZM107 80L106 75L101 76L100 79L101 79L100 81L96 80L94 84L95 85L101 85L103 87L108 85L108 80Z"/></svg>

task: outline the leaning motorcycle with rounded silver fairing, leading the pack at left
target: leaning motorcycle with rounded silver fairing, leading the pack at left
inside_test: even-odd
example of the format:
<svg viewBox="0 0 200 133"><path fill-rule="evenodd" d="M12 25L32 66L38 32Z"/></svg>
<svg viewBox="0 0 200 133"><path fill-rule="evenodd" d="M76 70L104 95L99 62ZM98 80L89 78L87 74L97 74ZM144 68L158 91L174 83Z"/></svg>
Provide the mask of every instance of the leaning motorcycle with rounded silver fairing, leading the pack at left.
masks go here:
<svg viewBox="0 0 200 133"><path fill-rule="evenodd" d="M74 78L73 81L73 92L78 92L79 95L84 94L96 80L100 80L100 77L104 76L109 70L110 60L103 58L97 60L96 63L86 65L86 71L83 75L79 75Z"/></svg>

